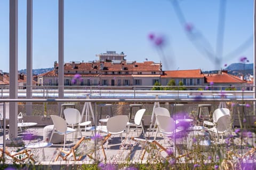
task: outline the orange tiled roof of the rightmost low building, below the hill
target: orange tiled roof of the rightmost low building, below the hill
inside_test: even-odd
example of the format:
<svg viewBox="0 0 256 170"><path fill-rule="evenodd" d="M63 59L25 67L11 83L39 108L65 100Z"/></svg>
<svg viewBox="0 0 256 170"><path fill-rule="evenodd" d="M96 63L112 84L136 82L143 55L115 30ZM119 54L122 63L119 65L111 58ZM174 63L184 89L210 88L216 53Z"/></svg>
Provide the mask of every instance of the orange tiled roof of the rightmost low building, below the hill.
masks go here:
<svg viewBox="0 0 256 170"><path fill-rule="evenodd" d="M209 74L205 75L206 83L246 83L245 80L233 75L229 75L226 72L221 74Z"/></svg>

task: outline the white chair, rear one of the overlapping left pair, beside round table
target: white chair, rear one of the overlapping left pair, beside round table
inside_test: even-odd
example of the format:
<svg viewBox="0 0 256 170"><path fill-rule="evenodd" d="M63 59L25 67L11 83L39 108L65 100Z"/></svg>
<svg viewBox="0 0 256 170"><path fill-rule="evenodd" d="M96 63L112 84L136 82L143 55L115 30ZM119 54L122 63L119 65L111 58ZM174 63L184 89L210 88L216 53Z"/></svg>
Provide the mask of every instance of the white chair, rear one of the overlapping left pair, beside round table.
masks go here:
<svg viewBox="0 0 256 170"><path fill-rule="evenodd" d="M64 112L64 116L66 119L66 122L68 123L68 125L71 125L72 128L74 128L75 126L77 126L77 130L79 131L81 137L82 137L82 132L80 127L81 126L89 126L91 125L91 121L86 121L86 122L82 122L82 117L81 114L79 112L79 110L74 109L74 108L67 108L63 110Z"/></svg>

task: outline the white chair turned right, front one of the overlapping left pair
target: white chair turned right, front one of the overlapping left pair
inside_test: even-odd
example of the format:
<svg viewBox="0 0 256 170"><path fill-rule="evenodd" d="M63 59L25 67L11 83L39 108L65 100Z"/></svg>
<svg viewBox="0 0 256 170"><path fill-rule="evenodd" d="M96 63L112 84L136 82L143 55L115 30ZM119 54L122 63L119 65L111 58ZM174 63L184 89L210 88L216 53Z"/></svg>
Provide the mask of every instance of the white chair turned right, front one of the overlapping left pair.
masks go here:
<svg viewBox="0 0 256 170"><path fill-rule="evenodd" d="M51 118L52 118L52 122L53 122L54 126L53 126L53 130L52 130L52 135L50 137L50 142L52 140L52 136L53 136L54 133L64 135L64 146L63 146L63 148L65 148L65 144L66 144L66 140L67 140L67 134L76 132L76 129L68 127L66 120L64 120L63 118L61 118L59 116L51 115Z"/></svg>

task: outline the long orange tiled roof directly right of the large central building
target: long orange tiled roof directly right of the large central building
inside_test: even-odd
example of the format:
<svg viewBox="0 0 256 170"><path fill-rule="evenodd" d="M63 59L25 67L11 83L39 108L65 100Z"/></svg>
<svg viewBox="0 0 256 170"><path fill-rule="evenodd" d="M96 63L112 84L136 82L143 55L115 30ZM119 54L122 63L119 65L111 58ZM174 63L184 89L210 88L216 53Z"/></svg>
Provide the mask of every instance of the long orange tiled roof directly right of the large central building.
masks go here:
<svg viewBox="0 0 256 170"><path fill-rule="evenodd" d="M204 75L202 74L201 69L195 70L173 70L173 71L164 71L163 78L202 78Z"/></svg>

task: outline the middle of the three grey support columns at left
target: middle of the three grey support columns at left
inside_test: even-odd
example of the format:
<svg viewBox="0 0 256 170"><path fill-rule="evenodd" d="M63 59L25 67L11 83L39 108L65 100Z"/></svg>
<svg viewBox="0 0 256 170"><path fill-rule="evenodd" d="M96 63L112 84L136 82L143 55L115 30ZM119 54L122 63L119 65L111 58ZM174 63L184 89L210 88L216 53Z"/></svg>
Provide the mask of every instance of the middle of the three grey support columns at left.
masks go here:
<svg viewBox="0 0 256 170"><path fill-rule="evenodd" d="M27 0L27 99L32 99L33 80L33 0ZM31 115L32 102L26 103L26 113Z"/></svg>

